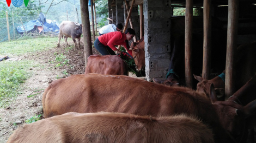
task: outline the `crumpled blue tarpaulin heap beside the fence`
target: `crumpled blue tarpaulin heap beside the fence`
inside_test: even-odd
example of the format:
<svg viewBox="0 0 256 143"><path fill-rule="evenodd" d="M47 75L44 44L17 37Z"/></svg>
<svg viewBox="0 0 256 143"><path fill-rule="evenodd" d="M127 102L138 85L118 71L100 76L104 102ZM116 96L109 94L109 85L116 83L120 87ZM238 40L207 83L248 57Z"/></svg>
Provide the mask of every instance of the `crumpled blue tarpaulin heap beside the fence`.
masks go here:
<svg viewBox="0 0 256 143"><path fill-rule="evenodd" d="M42 30L42 23L36 19L31 20L28 23L24 24L24 27L27 32L33 31L33 30ZM20 25L17 27L17 31L22 34L25 32L23 25ZM57 21L51 21L50 19L46 19L46 22L44 23L44 32L59 32L59 23Z"/></svg>

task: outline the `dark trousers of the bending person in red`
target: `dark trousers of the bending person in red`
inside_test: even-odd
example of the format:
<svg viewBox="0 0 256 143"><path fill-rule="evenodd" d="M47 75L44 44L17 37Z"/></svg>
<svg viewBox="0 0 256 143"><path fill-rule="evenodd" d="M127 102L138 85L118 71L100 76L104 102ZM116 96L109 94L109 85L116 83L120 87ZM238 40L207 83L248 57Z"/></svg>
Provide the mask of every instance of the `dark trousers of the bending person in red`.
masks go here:
<svg viewBox="0 0 256 143"><path fill-rule="evenodd" d="M94 41L94 47L103 55L115 55L114 51L108 46L104 46L98 38Z"/></svg>

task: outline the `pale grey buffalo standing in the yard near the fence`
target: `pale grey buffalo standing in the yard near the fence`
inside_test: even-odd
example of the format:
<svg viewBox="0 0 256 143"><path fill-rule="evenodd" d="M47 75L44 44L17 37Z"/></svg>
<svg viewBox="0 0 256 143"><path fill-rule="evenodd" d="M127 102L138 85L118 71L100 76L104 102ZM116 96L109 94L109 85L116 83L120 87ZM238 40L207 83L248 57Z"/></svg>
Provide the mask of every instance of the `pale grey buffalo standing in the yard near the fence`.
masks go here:
<svg viewBox="0 0 256 143"><path fill-rule="evenodd" d="M71 22L71 21L63 21L59 25L59 41L60 41L60 38L63 38L63 35L64 35L65 42L68 46L67 39L68 37L71 37L75 44L75 50L77 50L76 38L78 41L78 48L80 48L80 38L82 33L83 33L82 24ZM58 41L58 47L59 47L59 41Z"/></svg>

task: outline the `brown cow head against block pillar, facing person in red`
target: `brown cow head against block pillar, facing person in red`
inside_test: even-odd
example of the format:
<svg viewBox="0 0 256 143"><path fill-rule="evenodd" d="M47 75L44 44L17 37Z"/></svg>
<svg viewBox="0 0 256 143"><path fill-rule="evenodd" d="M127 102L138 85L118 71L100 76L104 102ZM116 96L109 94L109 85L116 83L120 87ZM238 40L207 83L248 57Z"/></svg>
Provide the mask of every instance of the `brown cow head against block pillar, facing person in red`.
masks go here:
<svg viewBox="0 0 256 143"><path fill-rule="evenodd" d="M145 50L144 50L144 40L140 43L132 42L130 49L132 50L132 56L136 64L136 68L138 71L141 71L142 68L145 67Z"/></svg>

